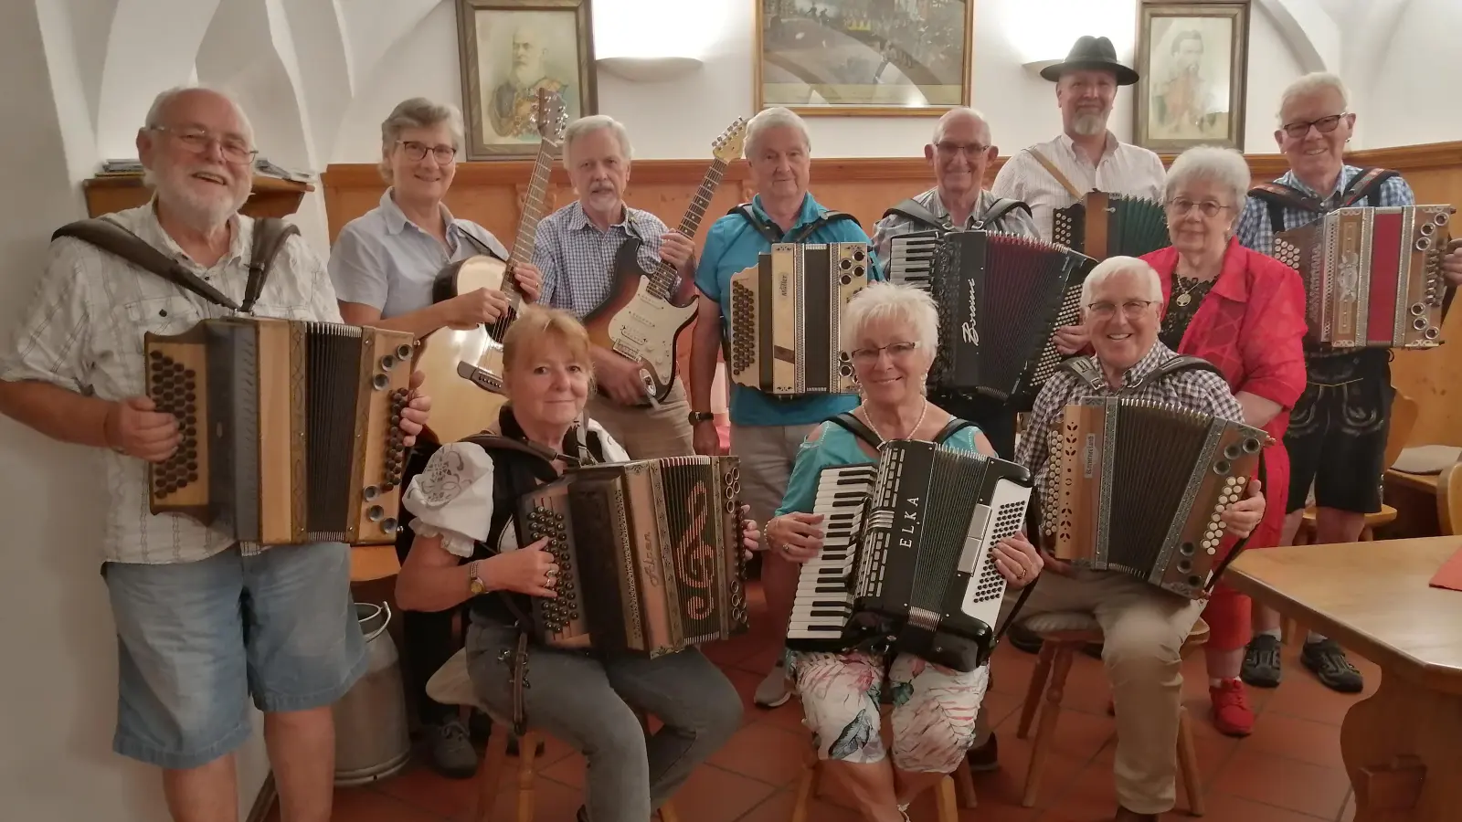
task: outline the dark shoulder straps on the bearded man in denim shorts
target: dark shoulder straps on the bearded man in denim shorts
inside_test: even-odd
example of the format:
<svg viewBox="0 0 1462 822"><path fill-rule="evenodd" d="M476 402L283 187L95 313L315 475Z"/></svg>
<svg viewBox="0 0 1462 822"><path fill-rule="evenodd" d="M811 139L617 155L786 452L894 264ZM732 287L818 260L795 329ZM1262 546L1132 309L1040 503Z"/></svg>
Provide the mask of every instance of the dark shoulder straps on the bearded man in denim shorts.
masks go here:
<svg viewBox="0 0 1462 822"><path fill-rule="evenodd" d="M123 228L107 218L79 219L67 222L51 234L56 241L60 237L75 237L96 249L121 257L137 268L149 271L168 282L197 294L199 297L222 306L230 312L251 313L259 293L263 291L269 269L279 256L281 249L300 228L278 218L256 218L253 227L253 243L249 250L249 282L244 285L244 304L240 306L227 294L211 285L199 275L189 271L183 263L155 249L151 243Z"/></svg>

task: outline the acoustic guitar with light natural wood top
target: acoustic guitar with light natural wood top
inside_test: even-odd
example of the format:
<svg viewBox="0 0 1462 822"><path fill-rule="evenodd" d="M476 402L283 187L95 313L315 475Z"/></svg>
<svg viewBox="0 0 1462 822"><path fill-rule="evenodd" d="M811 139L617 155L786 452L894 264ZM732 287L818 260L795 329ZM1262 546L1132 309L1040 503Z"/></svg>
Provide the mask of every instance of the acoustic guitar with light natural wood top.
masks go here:
<svg viewBox="0 0 1462 822"><path fill-rule="evenodd" d="M507 262L478 254L458 260L437 274L433 303L442 303L478 288L501 291L507 310L493 323L468 331L440 328L423 338L417 367L425 373L423 391L431 396L431 421L427 430L439 443L456 442L496 424L497 411L507 398L503 392L503 335L518 319L523 304L513 266L531 263L542 219L548 174L567 114L556 92L538 89L534 124L538 127L538 158L523 197L518 237Z"/></svg>

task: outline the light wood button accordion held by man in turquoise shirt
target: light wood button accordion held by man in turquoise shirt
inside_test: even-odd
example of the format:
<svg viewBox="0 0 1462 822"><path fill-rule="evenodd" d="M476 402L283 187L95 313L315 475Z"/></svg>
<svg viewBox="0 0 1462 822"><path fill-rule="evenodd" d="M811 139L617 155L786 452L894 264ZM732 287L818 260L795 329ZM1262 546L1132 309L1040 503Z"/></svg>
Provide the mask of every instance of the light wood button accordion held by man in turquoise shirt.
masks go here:
<svg viewBox="0 0 1462 822"><path fill-rule="evenodd" d="M868 265L867 243L776 243L732 274L731 380L773 396L855 392L842 312Z"/></svg>

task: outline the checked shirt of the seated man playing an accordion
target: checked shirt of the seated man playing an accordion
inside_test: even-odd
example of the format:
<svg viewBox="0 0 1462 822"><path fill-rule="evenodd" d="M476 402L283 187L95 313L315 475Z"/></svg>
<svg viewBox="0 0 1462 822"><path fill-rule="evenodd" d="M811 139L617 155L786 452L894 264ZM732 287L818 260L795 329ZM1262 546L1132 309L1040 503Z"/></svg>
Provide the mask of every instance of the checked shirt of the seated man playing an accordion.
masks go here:
<svg viewBox="0 0 1462 822"><path fill-rule="evenodd" d="M1152 351L1137 364L1127 369L1121 376L1121 391L1113 391L1110 386L1102 383L1101 391L1094 391L1086 380L1077 377L1076 374L1061 369L1047 380L1045 388L1035 398L1035 405L1031 408L1031 421L1026 431L1020 436L1020 445L1015 449L1015 461L1031 470L1031 477L1035 481L1035 489L1044 494L1045 491L1045 468L1050 464L1050 437L1051 430L1061 424L1061 412L1064 408L1073 402L1080 402L1088 396L1113 396L1116 393L1124 393L1133 399L1148 399L1152 402L1168 402L1180 408L1187 408L1190 411L1200 411L1203 414L1213 414L1215 417L1222 417L1225 420L1232 420L1235 423L1244 421L1244 410L1234 399L1232 392L1228 389L1228 383L1224 377L1215 374L1213 372L1178 372L1168 379L1143 386L1142 391L1127 391L1142 380L1142 377L1152 373L1154 369L1167 363L1177 354L1161 342L1152 344ZM1095 357L1091 358L1094 364L1101 367L1101 363Z"/></svg>

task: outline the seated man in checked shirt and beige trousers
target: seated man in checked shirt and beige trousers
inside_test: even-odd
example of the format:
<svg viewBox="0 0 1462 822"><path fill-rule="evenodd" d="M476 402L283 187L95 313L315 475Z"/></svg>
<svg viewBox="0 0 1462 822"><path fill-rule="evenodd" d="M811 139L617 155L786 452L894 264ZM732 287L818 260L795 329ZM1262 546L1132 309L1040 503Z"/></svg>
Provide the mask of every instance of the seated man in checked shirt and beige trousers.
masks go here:
<svg viewBox="0 0 1462 822"><path fill-rule="evenodd" d="M1208 370L1177 370L1142 383L1177 357L1158 341L1162 285L1158 274L1135 257L1110 257L1092 269L1082 287L1082 319L1091 332L1099 379L1092 385L1061 369L1041 389L1031 426L1020 437L1016 462L1031 470L1038 493L1045 493L1047 442L1061 411L1088 396L1123 393L1170 402L1243 421L1244 414L1224 377ZM1224 515L1228 531L1247 537L1263 518L1260 483ZM1156 819L1174 803L1178 705L1183 693L1178 648L1203 611L1202 600L1187 600L1121 572L1075 569L1045 553L1041 584L1018 614L1083 611L1101 623L1102 663L1117 711L1117 821Z"/></svg>

